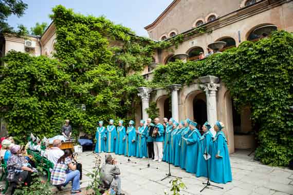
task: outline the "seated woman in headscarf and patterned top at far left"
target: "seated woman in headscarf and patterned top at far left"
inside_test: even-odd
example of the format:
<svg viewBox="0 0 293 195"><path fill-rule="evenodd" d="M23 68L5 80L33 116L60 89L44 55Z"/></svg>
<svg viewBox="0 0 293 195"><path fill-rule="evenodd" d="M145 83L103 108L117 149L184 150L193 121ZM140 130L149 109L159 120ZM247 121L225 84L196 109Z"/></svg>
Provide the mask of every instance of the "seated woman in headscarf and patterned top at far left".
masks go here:
<svg viewBox="0 0 293 195"><path fill-rule="evenodd" d="M32 181L31 173L37 171L34 168L30 168L24 165L22 157L20 156L20 145L12 146L10 148L10 151L11 156L7 161L7 179L11 182L11 194L13 194L18 184L27 183L27 185L29 186Z"/></svg>

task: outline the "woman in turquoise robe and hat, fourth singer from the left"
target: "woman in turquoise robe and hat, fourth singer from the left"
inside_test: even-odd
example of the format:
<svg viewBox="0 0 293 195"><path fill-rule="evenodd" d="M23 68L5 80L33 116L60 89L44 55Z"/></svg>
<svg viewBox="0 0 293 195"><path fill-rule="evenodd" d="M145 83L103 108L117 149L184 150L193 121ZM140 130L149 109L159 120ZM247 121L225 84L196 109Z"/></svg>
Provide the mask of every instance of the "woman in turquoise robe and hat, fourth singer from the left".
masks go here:
<svg viewBox="0 0 293 195"><path fill-rule="evenodd" d="M126 131L126 142L125 142L125 153L124 155L127 157L135 157L136 155L136 132L134 121L129 122L129 127L127 127Z"/></svg>

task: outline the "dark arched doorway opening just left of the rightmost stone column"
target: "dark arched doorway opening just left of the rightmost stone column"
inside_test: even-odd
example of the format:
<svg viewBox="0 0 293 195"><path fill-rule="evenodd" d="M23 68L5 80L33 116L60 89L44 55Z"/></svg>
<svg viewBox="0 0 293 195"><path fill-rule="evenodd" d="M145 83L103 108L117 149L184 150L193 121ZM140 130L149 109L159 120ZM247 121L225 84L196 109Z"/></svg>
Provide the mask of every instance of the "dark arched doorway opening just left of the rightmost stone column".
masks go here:
<svg viewBox="0 0 293 195"><path fill-rule="evenodd" d="M202 99L193 99L193 116L194 121L198 125L198 130L202 130L202 126L208 121L207 103Z"/></svg>

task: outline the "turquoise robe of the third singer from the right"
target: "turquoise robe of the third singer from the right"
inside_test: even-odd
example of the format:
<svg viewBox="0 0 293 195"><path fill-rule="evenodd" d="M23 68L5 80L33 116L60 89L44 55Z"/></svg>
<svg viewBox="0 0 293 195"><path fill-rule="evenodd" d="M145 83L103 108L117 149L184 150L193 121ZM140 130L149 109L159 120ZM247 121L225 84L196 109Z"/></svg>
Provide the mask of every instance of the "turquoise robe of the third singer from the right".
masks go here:
<svg viewBox="0 0 293 195"><path fill-rule="evenodd" d="M195 128L186 139L186 172L195 173L197 168L197 158L198 158L198 143L200 135L197 128Z"/></svg>

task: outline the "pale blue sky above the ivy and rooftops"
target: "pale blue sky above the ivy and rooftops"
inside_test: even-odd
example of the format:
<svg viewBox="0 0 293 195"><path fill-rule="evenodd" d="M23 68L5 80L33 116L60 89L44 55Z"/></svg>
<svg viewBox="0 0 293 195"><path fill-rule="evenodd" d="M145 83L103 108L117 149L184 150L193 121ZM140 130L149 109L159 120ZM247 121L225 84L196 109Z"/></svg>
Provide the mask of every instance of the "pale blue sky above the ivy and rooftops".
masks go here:
<svg viewBox="0 0 293 195"><path fill-rule="evenodd" d="M143 27L151 24L172 0L24 0L28 9L23 17L10 16L8 24L16 27L23 24L28 29L36 22L51 22L49 14L56 5L72 8L84 15L105 15L115 24L122 24L138 35L148 36Z"/></svg>

